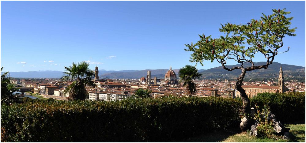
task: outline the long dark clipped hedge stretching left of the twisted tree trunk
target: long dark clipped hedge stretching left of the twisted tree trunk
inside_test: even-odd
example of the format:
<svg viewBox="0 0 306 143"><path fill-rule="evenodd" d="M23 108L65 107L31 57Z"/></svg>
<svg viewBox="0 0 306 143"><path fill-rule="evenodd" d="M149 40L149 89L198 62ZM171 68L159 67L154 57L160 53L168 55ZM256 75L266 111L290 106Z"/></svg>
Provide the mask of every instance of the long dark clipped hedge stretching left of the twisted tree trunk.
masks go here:
<svg viewBox="0 0 306 143"><path fill-rule="evenodd" d="M53 101L2 105L9 142L171 141L240 123L234 99L159 98L117 102Z"/></svg>

